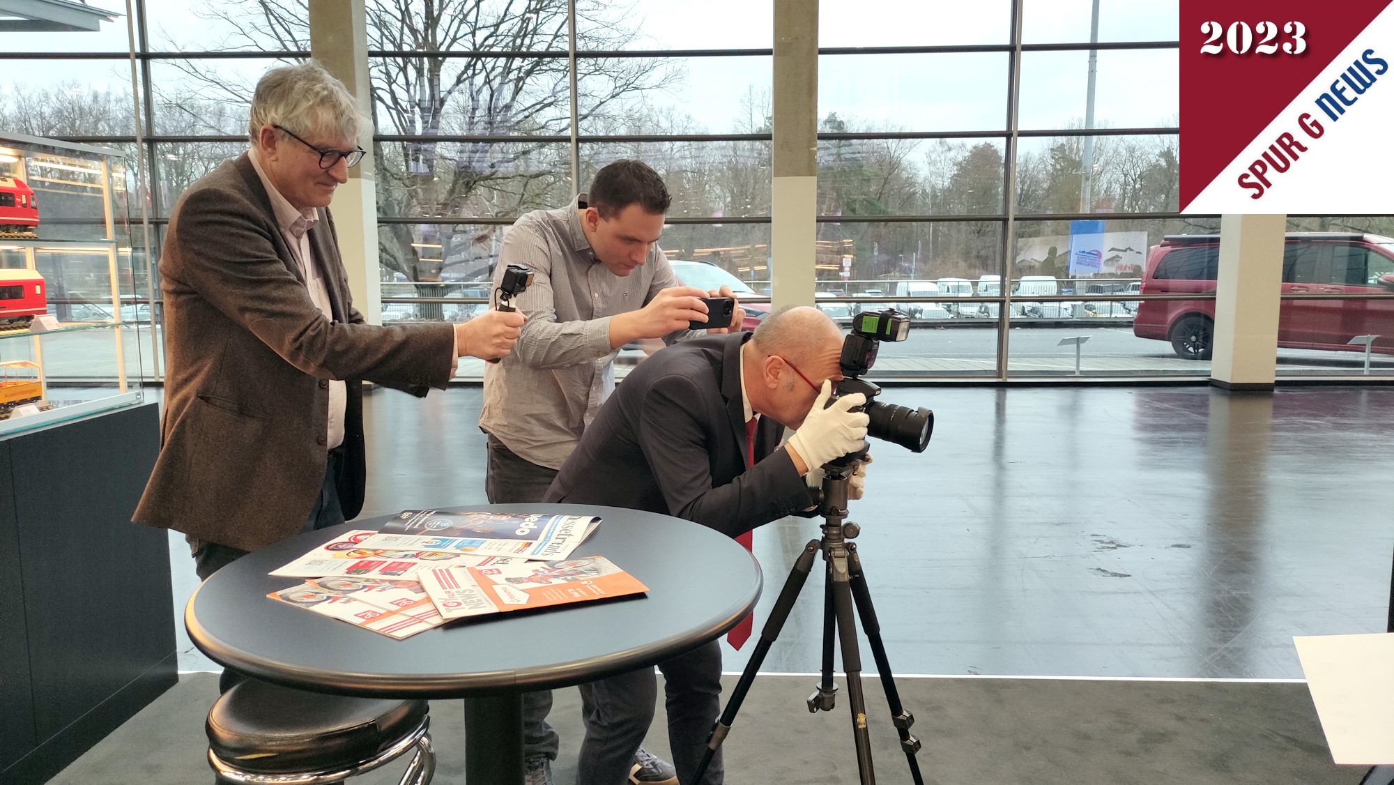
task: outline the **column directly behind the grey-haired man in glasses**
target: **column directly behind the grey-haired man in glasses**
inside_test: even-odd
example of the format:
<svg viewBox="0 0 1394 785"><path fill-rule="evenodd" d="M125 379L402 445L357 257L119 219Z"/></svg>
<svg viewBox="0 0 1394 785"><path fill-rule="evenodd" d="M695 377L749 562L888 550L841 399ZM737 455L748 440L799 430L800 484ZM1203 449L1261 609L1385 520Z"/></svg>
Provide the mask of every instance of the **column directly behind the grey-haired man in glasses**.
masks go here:
<svg viewBox="0 0 1394 785"><path fill-rule="evenodd" d="M309 53L339 77L371 117L368 82L368 24L364 0L309 0ZM348 181L335 190L329 209L339 233L339 254L348 273L354 307L374 325L382 323L378 268L378 190L374 177L372 124L358 131L358 146L368 151L348 170Z"/></svg>

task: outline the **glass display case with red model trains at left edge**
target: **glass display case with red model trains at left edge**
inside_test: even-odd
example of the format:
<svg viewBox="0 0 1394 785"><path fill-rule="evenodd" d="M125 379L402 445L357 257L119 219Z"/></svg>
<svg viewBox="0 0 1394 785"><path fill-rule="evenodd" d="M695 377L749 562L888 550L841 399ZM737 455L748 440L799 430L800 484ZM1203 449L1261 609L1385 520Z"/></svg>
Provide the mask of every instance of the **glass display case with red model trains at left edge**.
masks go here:
<svg viewBox="0 0 1394 785"><path fill-rule="evenodd" d="M0 435L142 400L127 185L120 151L0 131Z"/></svg>

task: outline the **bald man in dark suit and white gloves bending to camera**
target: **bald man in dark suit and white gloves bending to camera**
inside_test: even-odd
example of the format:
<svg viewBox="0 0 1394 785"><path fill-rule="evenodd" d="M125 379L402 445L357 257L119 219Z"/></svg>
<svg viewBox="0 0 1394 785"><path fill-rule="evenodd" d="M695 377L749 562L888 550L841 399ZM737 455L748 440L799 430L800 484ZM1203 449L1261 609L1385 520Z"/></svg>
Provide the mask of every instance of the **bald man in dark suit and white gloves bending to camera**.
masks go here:
<svg viewBox="0 0 1394 785"><path fill-rule="evenodd" d="M768 317L754 336L689 340L654 354L619 385L548 489L549 502L673 515L732 537L813 505L810 468L859 450L866 403L825 407L842 376L842 335L814 308ZM779 446L785 427L796 428ZM753 441L751 441L753 436ZM860 495L857 474L849 495ZM668 742L691 784L721 710L721 648L712 641L659 664ZM623 782L657 699L652 669L590 685L577 785ZM721 757L701 785L721 785Z"/></svg>

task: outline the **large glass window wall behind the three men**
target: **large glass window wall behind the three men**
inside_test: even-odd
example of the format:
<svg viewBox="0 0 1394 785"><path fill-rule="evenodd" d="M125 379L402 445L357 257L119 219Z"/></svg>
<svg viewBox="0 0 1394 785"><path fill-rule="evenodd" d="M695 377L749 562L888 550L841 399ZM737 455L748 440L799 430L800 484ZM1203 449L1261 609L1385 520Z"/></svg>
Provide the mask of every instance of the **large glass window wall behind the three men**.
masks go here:
<svg viewBox="0 0 1394 785"><path fill-rule="evenodd" d="M450 0L429 15L368 0L385 318L473 315L509 224L616 158L664 174L662 245L690 276L769 293L772 3L696 17L665 0L574 6L573 40L563 0ZM144 148L124 18L8 46L0 123L144 156L158 238L180 192L245 148L251 86L308 56L308 18L296 0L135 8ZM810 262L834 318L887 304L914 317L877 372L1209 372L1213 282L1146 276L1160 248L1204 247L1167 237L1218 230L1177 213L1177 20L1175 0L1104 0L1097 18L1090 0L821 1ZM1348 237L1322 247L1310 282L1285 279L1280 374L1366 372L1349 340L1394 332L1379 323L1394 297L1388 223L1289 220ZM1369 339L1372 374L1394 372L1388 340Z"/></svg>

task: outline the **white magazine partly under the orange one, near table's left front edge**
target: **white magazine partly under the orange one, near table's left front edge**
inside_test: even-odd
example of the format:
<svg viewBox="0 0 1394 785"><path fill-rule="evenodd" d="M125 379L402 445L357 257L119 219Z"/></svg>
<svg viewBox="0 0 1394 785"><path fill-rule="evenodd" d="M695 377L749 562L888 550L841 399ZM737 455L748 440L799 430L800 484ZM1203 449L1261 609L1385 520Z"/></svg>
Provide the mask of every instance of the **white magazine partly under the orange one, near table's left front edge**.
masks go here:
<svg viewBox="0 0 1394 785"><path fill-rule="evenodd" d="M397 640L445 623L417 581L326 579L266 597Z"/></svg>

